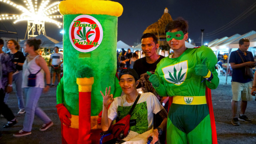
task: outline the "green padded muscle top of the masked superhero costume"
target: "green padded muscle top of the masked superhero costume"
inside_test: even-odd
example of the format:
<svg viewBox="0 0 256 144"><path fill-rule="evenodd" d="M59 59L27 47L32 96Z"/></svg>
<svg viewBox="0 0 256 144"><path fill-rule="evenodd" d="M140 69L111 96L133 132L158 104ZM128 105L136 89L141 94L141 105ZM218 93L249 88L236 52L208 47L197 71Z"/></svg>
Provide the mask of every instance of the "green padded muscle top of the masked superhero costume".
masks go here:
<svg viewBox="0 0 256 144"><path fill-rule="evenodd" d="M211 82L203 81L202 76L195 74L195 65L201 64L205 58L207 58L206 66L213 74ZM216 89L219 84L218 74L215 70L216 63L217 57L206 46L187 49L178 58L165 57L157 64L155 70L160 81L160 86L155 90L161 96L166 96L165 94L168 96L204 96L206 85L210 89ZM163 73L164 68L166 69L165 74ZM180 73L180 71L182 72ZM170 75L175 77L175 81L170 82L169 79L173 79Z"/></svg>

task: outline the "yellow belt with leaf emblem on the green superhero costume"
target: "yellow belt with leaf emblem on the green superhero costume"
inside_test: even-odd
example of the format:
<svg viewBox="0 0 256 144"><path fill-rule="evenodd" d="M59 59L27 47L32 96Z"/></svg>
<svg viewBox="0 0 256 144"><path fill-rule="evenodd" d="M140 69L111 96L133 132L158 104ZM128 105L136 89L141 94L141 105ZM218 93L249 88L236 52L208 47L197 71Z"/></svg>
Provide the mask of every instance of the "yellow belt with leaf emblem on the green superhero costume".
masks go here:
<svg viewBox="0 0 256 144"><path fill-rule="evenodd" d="M173 96L173 103L180 105L202 105L206 104L205 96Z"/></svg>

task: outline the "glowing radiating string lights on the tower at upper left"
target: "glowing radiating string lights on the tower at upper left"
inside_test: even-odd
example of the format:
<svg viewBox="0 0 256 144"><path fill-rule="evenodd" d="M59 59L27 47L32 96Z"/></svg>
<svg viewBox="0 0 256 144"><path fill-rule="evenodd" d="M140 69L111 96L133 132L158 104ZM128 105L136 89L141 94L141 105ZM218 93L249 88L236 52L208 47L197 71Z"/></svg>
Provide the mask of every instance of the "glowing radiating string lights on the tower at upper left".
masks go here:
<svg viewBox="0 0 256 144"><path fill-rule="evenodd" d="M59 1L53 2L49 5L50 0L42 0L38 2L38 0L24 0L25 7L22 5L18 5L17 3L10 1L10 0L0 0L0 2L6 3L15 9L21 10L21 14L1 14L0 20L14 20L13 23L17 23L20 21L27 21L28 23L28 38L36 36L34 35L35 32L35 25L37 25L37 29L40 30L38 33L41 32L45 34L45 22L54 23L59 28L62 27L63 23L55 20L56 18L62 18L62 15L53 15L57 13ZM38 8L39 7L39 8ZM32 35L29 33L32 32Z"/></svg>

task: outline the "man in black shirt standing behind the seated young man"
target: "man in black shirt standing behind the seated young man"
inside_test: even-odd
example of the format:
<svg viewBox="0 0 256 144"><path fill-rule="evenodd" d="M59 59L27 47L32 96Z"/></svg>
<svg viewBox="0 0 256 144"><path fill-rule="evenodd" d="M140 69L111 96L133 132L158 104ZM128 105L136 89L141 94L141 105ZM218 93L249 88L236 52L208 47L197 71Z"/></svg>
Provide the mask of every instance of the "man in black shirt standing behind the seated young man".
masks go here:
<svg viewBox="0 0 256 144"><path fill-rule="evenodd" d="M146 73L147 71L150 71L154 74L155 69L157 68L157 63L164 58L164 56L157 54L158 48L159 44L157 42L157 37L154 34L143 34L141 37L141 49L145 54L145 57L137 59L134 62L133 69L139 75L143 93L151 92L156 95L159 101L161 101L162 97L155 92L154 87L149 81L149 75Z"/></svg>

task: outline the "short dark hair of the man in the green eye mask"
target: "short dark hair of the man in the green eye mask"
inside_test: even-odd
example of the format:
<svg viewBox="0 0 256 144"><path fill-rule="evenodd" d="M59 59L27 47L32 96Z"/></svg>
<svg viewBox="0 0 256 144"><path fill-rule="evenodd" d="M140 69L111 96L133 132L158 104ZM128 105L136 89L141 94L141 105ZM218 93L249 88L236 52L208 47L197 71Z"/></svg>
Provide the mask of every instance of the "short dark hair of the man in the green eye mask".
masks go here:
<svg viewBox="0 0 256 144"><path fill-rule="evenodd" d="M185 19L182 17L178 17L177 19L169 22L165 27L165 33L174 29L178 29L178 31L182 31L183 34L187 33L187 30L189 29L189 25Z"/></svg>

